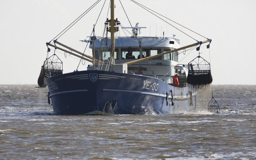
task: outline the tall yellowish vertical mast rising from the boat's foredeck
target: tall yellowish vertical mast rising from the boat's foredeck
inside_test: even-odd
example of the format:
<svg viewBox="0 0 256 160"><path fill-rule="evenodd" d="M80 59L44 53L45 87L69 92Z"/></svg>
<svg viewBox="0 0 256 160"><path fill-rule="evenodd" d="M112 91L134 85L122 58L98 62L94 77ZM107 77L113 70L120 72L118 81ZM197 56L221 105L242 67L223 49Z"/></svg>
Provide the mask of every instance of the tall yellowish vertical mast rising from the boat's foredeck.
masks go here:
<svg viewBox="0 0 256 160"><path fill-rule="evenodd" d="M115 33L115 20L114 20L114 0L111 0L111 19L110 19L110 33L111 33L111 55L112 55L112 62L114 64L114 33Z"/></svg>

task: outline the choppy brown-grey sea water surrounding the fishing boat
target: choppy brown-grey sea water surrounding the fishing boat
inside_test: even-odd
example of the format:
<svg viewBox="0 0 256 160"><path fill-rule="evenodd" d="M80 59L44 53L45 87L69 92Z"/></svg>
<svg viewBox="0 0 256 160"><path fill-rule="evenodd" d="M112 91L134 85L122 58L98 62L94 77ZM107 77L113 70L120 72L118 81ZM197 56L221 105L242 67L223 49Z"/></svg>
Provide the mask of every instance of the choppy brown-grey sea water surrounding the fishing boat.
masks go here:
<svg viewBox="0 0 256 160"><path fill-rule="evenodd" d="M58 116L47 93L0 85L0 159L256 159L256 85L213 85L221 113L211 87L196 112L165 115Z"/></svg>

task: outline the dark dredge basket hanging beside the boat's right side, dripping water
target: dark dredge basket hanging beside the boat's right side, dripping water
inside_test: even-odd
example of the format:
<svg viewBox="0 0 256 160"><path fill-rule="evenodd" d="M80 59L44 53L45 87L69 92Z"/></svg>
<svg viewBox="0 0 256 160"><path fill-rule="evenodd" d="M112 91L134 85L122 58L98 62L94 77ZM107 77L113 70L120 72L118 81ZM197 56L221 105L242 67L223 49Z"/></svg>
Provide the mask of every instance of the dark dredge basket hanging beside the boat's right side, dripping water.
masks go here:
<svg viewBox="0 0 256 160"><path fill-rule="evenodd" d="M206 85L213 81L210 63L200 55L188 63L187 82L192 85Z"/></svg>

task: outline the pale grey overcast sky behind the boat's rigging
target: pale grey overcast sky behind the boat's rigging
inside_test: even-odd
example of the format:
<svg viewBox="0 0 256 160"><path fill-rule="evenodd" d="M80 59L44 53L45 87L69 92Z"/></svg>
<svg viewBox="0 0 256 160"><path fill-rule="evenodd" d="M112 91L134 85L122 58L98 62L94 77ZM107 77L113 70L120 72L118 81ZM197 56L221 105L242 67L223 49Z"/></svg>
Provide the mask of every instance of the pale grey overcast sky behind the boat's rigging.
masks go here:
<svg viewBox="0 0 256 160"><path fill-rule="evenodd" d="M46 42L52 40L73 22L96 0L0 0L0 84L37 84L43 61L46 59ZM210 49L200 50L201 56L210 61L213 84L256 85L256 1L255 0L136 0L150 9L176 21L187 28L212 39ZM154 17L130 0L121 0L133 26L147 27L141 36L172 37L180 39L181 46L195 41ZM80 52L86 43L79 40L90 36L92 27L103 6L102 0L68 32L58 39ZM101 36L107 17L109 0L103 7L96 24L96 36ZM119 0L115 0L115 17L130 27ZM110 17L110 16L109 16ZM174 23L172 23L174 24ZM179 27L183 30L183 28ZM198 41L205 38L183 30ZM121 36L122 33L120 33ZM53 49L50 55L53 54ZM91 55L91 50L86 49ZM63 73L74 71L79 60L65 58L59 50L56 54L63 61ZM188 54L188 53L186 53ZM198 55L193 51L181 63L187 64ZM182 57L183 56L183 57ZM80 65L78 70L85 70Z"/></svg>

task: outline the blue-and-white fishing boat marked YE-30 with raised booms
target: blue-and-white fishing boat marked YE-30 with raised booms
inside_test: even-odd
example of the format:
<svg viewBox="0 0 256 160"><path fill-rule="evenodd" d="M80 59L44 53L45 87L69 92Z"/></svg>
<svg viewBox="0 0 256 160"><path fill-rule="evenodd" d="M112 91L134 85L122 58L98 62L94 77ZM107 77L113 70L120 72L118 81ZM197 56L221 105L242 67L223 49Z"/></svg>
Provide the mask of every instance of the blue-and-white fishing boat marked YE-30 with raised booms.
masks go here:
<svg viewBox="0 0 256 160"><path fill-rule="evenodd" d="M199 50L201 44L210 44L212 40L206 38L205 41L181 47L180 40L174 36L140 36L140 30L145 27L139 27L139 23L135 27L122 27L114 17L114 0L110 3L111 18L107 18L104 29L106 36L96 37L94 26L89 40L84 41L92 49L92 56L66 46L56 37L53 42L46 43L48 53L49 47L53 47L91 63L87 70L62 74L62 62L50 58L44 62L38 84L46 86L43 80L47 78L48 102L50 104L51 99L54 114L170 114L194 111L197 92L188 80L196 85L211 83L209 64L204 59L203 63L178 64L178 51L191 47ZM131 28L132 35L115 37L120 28ZM107 37L108 32L110 38ZM200 55L197 58L201 58ZM175 75L178 84L173 83ZM197 75L201 79L199 83ZM202 81L202 76L206 77L204 75L208 76Z"/></svg>

